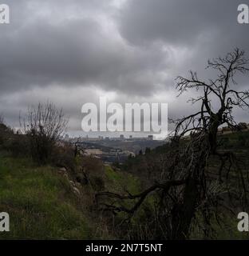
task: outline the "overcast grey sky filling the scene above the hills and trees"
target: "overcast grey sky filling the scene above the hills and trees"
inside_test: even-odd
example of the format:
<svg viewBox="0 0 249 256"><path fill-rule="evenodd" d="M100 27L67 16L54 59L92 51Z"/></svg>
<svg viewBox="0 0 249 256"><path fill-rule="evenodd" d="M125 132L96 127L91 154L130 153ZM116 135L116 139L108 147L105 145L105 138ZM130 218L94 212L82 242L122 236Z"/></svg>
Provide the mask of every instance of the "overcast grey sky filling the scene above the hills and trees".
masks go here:
<svg viewBox="0 0 249 256"><path fill-rule="evenodd" d="M82 104L99 96L168 102L170 117L188 114L177 75L207 78L207 59L235 47L249 57L249 25L237 22L243 2L0 0L10 6L10 24L0 24L0 113L18 126L20 110L49 100L69 115L70 132L81 130ZM237 116L249 122L248 111Z"/></svg>

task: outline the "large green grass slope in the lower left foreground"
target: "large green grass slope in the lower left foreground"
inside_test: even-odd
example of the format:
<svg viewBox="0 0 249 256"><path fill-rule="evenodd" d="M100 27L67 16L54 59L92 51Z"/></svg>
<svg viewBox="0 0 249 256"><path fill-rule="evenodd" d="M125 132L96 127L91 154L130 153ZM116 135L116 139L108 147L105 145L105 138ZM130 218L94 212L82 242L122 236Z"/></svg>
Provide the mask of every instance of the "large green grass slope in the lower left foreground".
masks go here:
<svg viewBox="0 0 249 256"><path fill-rule="evenodd" d="M2 211L10 214L10 232L0 233L0 239L91 238L89 221L57 170L0 153Z"/></svg>

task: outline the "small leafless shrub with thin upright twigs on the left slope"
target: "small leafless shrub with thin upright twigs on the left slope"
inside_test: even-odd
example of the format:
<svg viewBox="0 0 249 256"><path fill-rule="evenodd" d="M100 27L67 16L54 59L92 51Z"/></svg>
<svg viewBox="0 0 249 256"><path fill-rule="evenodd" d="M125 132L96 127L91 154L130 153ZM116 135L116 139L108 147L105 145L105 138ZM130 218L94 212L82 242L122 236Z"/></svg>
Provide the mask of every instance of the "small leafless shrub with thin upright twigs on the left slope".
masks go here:
<svg viewBox="0 0 249 256"><path fill-rule="evenodd" d="M27 118L22 121L22 126L30 139L32 157L39 163L45 163L54 143L58 141L68 123L68 118L62 110L52 103L39 103L37 107L28 109Z"/></svg>

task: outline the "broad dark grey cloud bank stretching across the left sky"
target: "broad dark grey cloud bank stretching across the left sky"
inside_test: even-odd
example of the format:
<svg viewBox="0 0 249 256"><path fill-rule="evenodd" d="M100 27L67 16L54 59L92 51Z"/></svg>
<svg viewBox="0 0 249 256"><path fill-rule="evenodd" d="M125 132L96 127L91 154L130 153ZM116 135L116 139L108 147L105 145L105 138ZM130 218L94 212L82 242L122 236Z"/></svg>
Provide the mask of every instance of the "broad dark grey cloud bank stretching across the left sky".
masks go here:
<svg viewBox="0 0 249 256"><path fill-rule="evenodd" d="M83 9L80 2L73 3ZM67 10L63 4L57 2L57 5L60 10ZM38 8L33 2L34 6ZM60 83L68 87L96 84L107 90L145 93L152 90L154 81L160 79L156 73L165 68L165 54L157 46L140 49L125 45L118 35L111 33L118 34L118 31L105 31L101 26L103 20L98 20L97 15L89 18L76 13L75 17L70 14L61 19L56 14L42 17L41 10L35 9L27 21L21 18L19 22L24 23L18 28L15 21L13 27L10 25L8 32L1 36L2 92Z"/></svg>

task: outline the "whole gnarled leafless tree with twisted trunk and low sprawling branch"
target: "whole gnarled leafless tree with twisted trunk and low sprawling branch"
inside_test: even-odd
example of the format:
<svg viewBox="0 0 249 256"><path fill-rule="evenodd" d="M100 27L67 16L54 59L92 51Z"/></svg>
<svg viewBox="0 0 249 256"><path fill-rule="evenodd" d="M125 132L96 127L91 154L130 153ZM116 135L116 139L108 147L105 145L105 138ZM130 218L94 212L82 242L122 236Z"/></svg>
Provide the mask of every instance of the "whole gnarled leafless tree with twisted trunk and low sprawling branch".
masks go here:
<svg viewBox="0 0 249 256"><path fill-rule="evenodd" d="M244 209L248 202L247 174L243 173L235 154L218 149L217 134L219 126L223 124L234 130L239 129L232 111L235 107L249 106L249 91L235 89L235 75L245 74L248 63L243 50L235 49L224 58L208 61L207 68L218 71L215 79L201 80L193 71L190 71L189 78L176 78L176 89L180 94L187 90L201 92L200 97L191 99L193 103L200 102L200 109L176 120L170 152L165 157L169 162L166 170L164 166L160 179L140 194L97 194L98 200L103 196L114 200L100 202L101 209L113 213L126 212L129 220L145 198L153 193L158 202L153 218L156 221L152 226L156 226L155 234L162 234L160 238L170 239L188 238L197 211L203 216L204 232L207 233L211 228L211 211L217 217L221 208L229 208L227 201L233 198L237 206ZM212 104L215 98L219 102L217 109ZM184 138L186 134L190 134L188 140ZM208 171L211 158L219 159L218 175ZM232 178L229 176L231 166L235 166ZM136 202L132 207L127 207L122 202L124 200Z"/></svg>

